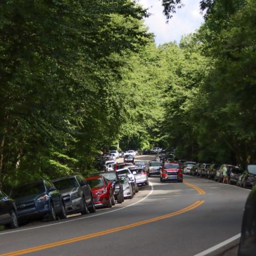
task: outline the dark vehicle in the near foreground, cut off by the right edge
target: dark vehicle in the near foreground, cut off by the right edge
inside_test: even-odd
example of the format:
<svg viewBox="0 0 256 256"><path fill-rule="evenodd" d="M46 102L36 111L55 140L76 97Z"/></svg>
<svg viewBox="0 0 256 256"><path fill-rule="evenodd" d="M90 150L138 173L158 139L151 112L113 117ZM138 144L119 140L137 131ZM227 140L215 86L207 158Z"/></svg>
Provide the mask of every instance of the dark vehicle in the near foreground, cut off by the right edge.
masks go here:
<svg viewBox="0 0 256 256"><path fill-rule="evenodd" d="M252 189L245 203L241 238L240 238L238 254L237 254L238 256L255 255L255 251L256 251L255 223L256 223L256 187Z"/></svg>

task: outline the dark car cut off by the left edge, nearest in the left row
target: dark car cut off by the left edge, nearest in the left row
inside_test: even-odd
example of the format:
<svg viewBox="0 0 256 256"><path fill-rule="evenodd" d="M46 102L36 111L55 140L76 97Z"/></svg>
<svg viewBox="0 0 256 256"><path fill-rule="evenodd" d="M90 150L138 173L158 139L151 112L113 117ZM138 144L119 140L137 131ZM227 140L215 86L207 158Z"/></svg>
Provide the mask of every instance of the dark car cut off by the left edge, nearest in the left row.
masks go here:
<svg viewBox="0 0 256 256"><path fill-rule="evenodd" d="M14 200L0 189L0 225L18 228L17 209Z"/></svg>

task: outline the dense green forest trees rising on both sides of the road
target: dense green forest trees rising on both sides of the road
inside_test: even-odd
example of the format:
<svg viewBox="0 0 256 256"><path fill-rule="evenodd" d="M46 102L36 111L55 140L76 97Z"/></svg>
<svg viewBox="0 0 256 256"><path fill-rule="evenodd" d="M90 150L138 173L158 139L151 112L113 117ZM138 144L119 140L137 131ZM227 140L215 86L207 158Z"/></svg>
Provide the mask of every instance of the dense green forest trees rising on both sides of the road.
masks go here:
<svg viewBox="0 0 256 256"><path fill-rule="evenodd" d="M0 187L85 174L118 142L255 161L256 3L201 9L195 34L156 46L131 0L1 1Z"/></svg>

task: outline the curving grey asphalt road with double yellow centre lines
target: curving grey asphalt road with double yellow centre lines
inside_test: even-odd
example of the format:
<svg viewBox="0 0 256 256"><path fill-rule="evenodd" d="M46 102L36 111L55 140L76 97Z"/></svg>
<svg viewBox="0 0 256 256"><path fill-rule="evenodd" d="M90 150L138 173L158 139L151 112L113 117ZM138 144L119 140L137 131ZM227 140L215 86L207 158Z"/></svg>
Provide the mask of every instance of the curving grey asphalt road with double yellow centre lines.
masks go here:
<svg viewBox="0 0 256 256"><path fill-rule="evenodd" d="M193 256L240 232L248 190L187 176L149 180L110 210L0 232L0 256Z"/></svg>

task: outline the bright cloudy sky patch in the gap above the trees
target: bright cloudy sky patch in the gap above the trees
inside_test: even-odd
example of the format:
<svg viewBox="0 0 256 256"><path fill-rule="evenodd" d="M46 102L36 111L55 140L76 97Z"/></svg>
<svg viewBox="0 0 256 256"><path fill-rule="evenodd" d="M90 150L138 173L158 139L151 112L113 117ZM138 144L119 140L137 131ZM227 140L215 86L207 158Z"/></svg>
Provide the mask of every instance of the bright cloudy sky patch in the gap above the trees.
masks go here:
<svg viewBox="0 0 256 256"><path fill-rule="evenodd" d="M173 14L169 23L163 14L162 1L159 0L139 0L143 7L149 8L151 13L149 18L145 19L149 31L155 34L156 44L163 44L170 41L180 42L182 35L194 32L204 21L199 10L201 0L183 0L185 6Z"/></svg>

